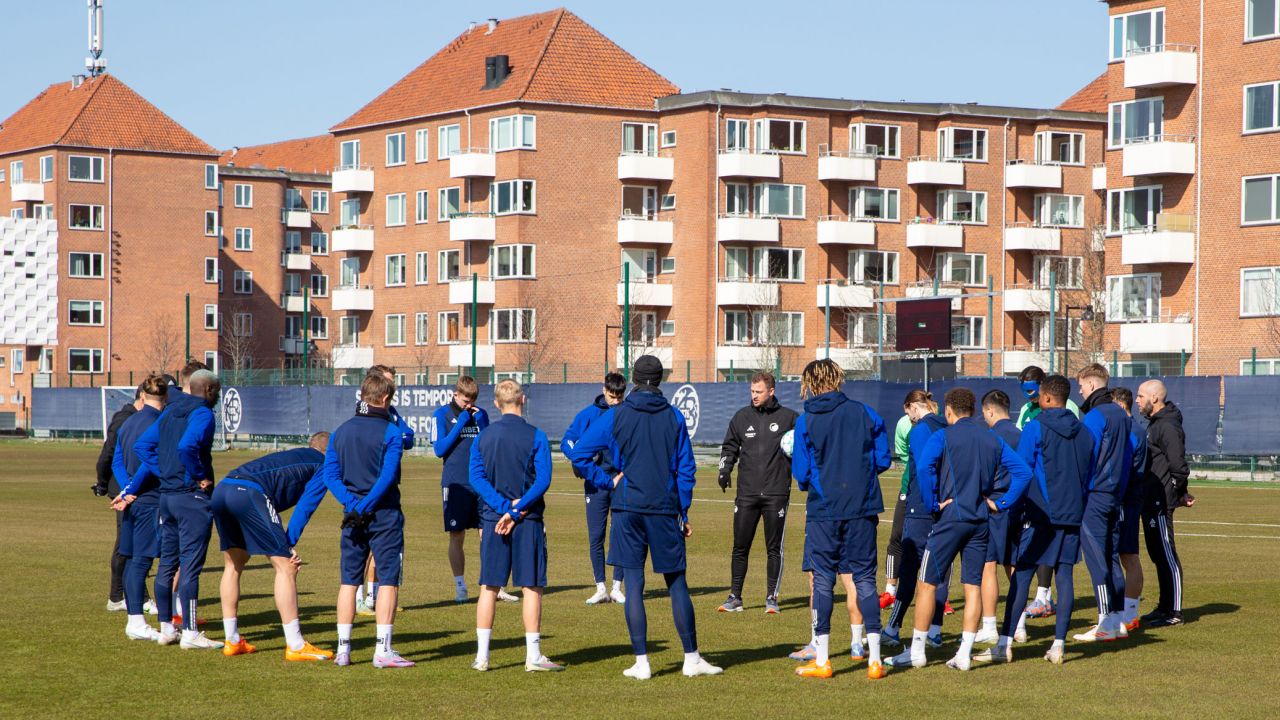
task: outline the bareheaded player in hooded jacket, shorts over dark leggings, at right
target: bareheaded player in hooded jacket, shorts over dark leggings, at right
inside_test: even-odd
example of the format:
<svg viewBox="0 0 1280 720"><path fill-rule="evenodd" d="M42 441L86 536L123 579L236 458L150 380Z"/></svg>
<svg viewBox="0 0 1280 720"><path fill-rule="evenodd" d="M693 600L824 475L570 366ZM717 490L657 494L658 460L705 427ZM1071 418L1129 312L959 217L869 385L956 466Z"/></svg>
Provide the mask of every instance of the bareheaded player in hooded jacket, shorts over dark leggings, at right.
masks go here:
<svg viewBox="0 0 1280 720"><path fill-rule="evenodd" d="M1023 505L1027 529L1021 534L1016 570L1005 601L1004 633L993 648L975 655L975 661L1014 660L1014 615L1027 602L1036 569L1048 565L1057 577L1059 611L1053 644L1044 659L1055 665L1062 662L1066 628L1075 601L1071 573L1080 561L1080 520L1093 464L1093 438L1066 409L1070 395L1071 383L1062 375L1044 378L1037 393L1041 413L1027 423L1018 442L1018 455L1036 478L1027 491L1028 502Z"/></svg>

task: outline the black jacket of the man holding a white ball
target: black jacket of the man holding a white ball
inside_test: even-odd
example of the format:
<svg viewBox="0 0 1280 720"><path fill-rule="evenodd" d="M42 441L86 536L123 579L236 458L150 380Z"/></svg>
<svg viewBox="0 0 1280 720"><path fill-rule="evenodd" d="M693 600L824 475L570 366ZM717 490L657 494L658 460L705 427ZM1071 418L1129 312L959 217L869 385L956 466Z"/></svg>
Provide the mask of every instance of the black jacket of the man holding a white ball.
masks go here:
<svg viewBox="0 0 1280 720"><path fill-rule="evenodd" d="M796 427L799 414L771 397L762 407L748 405L728 423L721 446L721 487L727 486L733 465L737 496L791 495L791 459L782 452L782 436Z"/></svg>

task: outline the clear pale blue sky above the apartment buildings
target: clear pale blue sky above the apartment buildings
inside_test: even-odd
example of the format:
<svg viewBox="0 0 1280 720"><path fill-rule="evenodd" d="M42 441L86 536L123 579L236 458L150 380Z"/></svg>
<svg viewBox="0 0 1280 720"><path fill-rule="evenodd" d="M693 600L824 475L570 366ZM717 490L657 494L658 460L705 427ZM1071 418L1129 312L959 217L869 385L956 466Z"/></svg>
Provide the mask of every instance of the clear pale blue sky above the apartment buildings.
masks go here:
<svg viewBox="0 0 1280 720"><path fill-rule="evenodd" d="M489 0L106 0L108 68L227 149L325 132L466 29L550 9ZM0 118L83 72L83 0L3 0ZM580 0L684 91L1053 106L1102 72L1106 5L1066 0ZM728 10L732 8L732 10Z"/></svg>

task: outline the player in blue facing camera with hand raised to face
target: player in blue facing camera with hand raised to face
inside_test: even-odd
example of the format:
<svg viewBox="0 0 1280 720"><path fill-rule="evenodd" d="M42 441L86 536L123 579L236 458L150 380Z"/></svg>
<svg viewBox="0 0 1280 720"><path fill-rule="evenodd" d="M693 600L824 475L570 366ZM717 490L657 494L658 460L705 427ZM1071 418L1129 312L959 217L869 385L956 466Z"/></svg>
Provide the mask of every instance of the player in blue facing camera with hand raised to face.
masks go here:
<svg viewBox="0 0 1280 720"><path fill-rule="evenodd" d="M480 386L462 375L453 386L453 401L435 411L431 451L444 460L440 488L444 497L444 532L449 533L449 568L453 570L454 602L467 601L466 556L462 542L467 530L480 528L480 503L467 482L471 443L489 427L489 414L476 407Z"/></svg>

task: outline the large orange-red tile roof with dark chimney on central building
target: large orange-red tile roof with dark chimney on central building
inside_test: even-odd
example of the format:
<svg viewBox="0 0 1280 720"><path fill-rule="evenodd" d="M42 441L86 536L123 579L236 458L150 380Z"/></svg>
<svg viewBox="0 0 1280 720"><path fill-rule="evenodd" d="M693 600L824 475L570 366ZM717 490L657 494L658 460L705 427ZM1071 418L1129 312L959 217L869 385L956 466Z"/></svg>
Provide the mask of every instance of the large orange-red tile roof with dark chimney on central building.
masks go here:
<svg viewBox="0 0 1280 720"><path fill-rule="evenodd" d="M511 74L484 88L484 61L507 55ZM680 88L581 18L559 9L463 32L352 117L343 131L438 113L526 100L653 109Z"/></svg>

